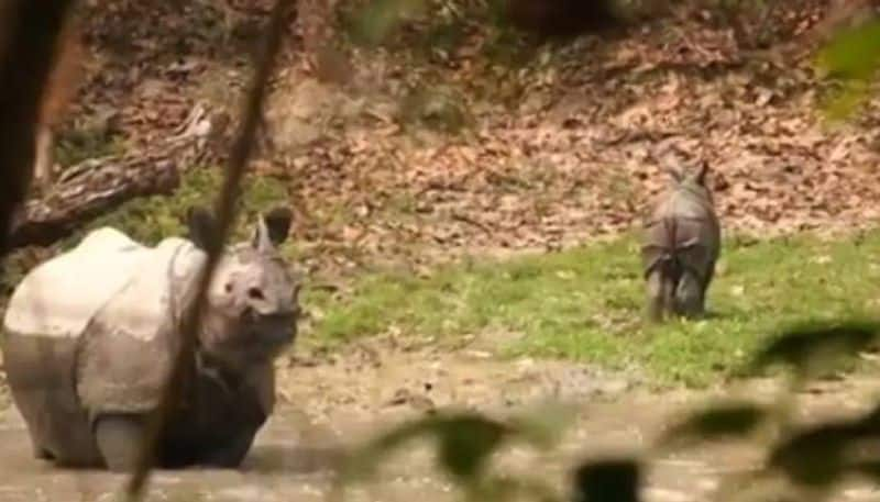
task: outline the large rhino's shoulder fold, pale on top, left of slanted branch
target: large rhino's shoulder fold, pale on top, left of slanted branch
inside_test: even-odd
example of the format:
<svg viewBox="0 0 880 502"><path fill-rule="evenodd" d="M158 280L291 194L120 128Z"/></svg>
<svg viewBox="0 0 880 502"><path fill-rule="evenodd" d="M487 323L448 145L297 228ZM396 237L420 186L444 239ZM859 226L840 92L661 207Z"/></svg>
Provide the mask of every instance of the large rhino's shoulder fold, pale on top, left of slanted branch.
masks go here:
<svg viewBox="0 0 880 502"><path fill-rule="evenodd" d="M205 254L167 238L86 327L79 342L77 393L90 415L155 408L177 344L182 292L190 289Z"/></svg>

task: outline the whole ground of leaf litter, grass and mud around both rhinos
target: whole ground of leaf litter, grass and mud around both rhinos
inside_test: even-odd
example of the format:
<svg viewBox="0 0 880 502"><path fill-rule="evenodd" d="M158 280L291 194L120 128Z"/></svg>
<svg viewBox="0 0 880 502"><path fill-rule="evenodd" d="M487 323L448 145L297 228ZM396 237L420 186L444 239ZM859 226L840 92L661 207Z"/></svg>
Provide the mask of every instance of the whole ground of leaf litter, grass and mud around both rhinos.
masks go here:
<svg viewBox="0 0 880 502"><path fill-rule="evenodd" d="M148 146L196 103L234 119L264 13L240 11L230 34L211 3L110 3L88 18L92 55L62 161ZM729 382L768 336L877 308L880 101L829 123L822 105L835 86L809 57L741 51L701 11L537 51L499 51L468 27L442 51L403 35L351 48L339 83L319 80L290 38L244 209L295 210L287 249L306 277L301 339L280 362L282 404L250 467L162 472L154 500L323 500L339 448L377 426L548 398L585 406L563 447L505 458L515 471L562 477L583 456L641 450L671 414L710 395L745 386L772 399L773 381ZM108 110L112 126L91 131ZM670 155L708 161L725 258L712 317L649 328L630 232L667 183ZM212 166L188 167L174 197L133 201L89 227L147 242L179 232L185 205L211 197L218 179ZM12 279L70 242L19 253ZM817 384L804 413L872 403L872 373ZM107 500L120 478L31 460L6 410L0 500ZM450 500L419 451L387 467L381 491L355 498ZM705 500L721 473L759 453L656 459L646 495Z"/></svg>

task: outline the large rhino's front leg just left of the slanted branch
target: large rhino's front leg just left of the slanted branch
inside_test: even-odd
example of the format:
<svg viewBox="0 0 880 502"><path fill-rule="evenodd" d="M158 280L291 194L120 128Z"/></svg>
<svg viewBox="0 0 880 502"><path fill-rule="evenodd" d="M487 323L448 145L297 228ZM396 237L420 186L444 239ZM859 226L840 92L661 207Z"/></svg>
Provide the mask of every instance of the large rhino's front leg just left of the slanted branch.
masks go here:
<svg viewBox="0 0 880 502"><path fill-rule="evenodd" d="M95 439L107 468L113 472L131 471L138 464L146 427L142 416L101 415L95 423Z"/></svg>

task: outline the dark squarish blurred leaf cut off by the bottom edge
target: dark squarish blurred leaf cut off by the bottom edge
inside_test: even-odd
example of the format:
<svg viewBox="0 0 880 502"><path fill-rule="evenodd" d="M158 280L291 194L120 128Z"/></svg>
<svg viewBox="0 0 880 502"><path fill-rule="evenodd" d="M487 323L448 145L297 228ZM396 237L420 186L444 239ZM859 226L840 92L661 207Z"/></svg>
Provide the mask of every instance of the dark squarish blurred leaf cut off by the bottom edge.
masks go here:
<svg viewBox="0 0 880 502"><path fill-rule="evenodd" d="M637 502L641 483L638 460L608 459L581 465L574 473L574 502Z"/></svg>

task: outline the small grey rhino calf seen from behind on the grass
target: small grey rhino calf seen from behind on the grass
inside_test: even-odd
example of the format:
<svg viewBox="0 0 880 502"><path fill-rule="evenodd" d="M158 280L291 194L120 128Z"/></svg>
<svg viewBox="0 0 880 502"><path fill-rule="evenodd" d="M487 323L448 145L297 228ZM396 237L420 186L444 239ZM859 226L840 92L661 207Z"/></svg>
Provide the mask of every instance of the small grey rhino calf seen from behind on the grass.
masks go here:
<svg viewBox="0 0 880 502"><path fill-rule="evenodd" d="M694 317L705 312L706 290L721 253L721 225L705 178L674 170L673 187L658 201L642 234L648 317Z"/></svg>

